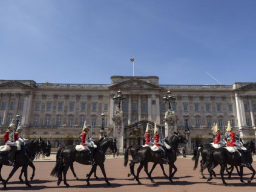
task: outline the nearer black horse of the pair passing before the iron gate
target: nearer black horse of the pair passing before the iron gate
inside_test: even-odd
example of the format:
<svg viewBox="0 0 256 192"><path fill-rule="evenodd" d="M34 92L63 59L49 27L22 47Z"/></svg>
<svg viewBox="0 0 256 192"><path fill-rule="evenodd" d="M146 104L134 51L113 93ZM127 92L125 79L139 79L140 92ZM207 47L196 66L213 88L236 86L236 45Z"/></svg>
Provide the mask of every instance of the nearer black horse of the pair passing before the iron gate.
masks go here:
<svg viewBox="0 0 256 192"><path fill-rule="evenodd" d="M177 149L180 142L182 143L188 142L188 139L186 139L185 136L181 135L180 133L174 132L172 136L168 139L168 144L171 145L171 149L167 150L167 156L169 159L168 164L169 164L169 181L170 182L173 182L172 168L174 167L174 162L177 159ZM125 166L128 163L128 150L129 148L125 150L125 163L124 163ZM132 162L134 164L140 163L139 167L137 168L137 175L136 175L137 184L141 184L141 182L139 181L139 173L143 167L144 167L144 171L148 175L148 178L151 180L151 182L154 183L153 178L148 173L148 162L154 162L154 164L163 164L164 163L163 153L161 151L160 153L159 151L156 153L156 152L153 152L150 147L143 147L139 149L136 155L134 156L132 155L132 157L133 157Z"/></svg>

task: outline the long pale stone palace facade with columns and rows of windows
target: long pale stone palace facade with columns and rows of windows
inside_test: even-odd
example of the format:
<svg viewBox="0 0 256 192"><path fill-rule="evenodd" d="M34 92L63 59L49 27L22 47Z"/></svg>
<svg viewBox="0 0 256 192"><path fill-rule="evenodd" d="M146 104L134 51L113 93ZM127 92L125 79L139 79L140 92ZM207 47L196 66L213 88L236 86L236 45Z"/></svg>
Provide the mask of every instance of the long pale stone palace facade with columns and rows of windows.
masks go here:
<svg viewBox="0 0 256 192"><path fill-rule="evenodd" d="M121 104L113 100L119 90L125 97ZM163 100L167 92L175 98L169 104ZM166 111L171 108L177 117L177 129L188 126L191 136L210 135L214 123L224 130L228 121L241 135L256 133L253 82L159 85L157 76L112 76L107 84L0 80L0 104L1 134L19 114L25 135L79 134L85 121L92 134L97 135L102 126L107 130L113 127L119 104L126 125L142 119L164 124Z"/></svg>

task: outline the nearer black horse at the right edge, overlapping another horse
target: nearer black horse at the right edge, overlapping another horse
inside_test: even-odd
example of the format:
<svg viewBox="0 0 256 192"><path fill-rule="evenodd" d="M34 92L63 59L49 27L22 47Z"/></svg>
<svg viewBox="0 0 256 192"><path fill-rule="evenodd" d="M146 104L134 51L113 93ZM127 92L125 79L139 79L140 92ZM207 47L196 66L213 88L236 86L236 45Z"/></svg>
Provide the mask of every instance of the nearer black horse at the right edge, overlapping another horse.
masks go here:
<svg viewBox="0 0 256 192"><path fill-rule="evenodd" d="M255 152L255 143L253 141L248 141L249 144L248 146L250 146L250 150L252 152ZM251 179L248 179L248 183L251 183L252 179L254 179L254 175L255 175L255 170L252 167L252 156L251 156L251 152L249 152L248 150L238 150L240 153L243 152L243 158L245 158L246 160L246 167L249 168L249 170L252 171L252 176ZM208 163L210 162L210 163ZM240 155L235 152L235 153L230 153L228 152L228 150L226 148L220 148L220 149L215 149L213 153L209 153L207 158L206 158L206 164L208 165L208 171L210 174L210 177L208 178L208 181L211 181L212 179L212 169L214 167L216 167L217 165L220 165L220 175L222 177L222 183L223 185L229 185L226 183L225 179L224 179L224 170L226 168L226 165L234 165L234 166L239 166L240 167L240 181L241 183L245 184L245 182L243 181L243 166L240 165L241 163L241 157Z"/></svg>

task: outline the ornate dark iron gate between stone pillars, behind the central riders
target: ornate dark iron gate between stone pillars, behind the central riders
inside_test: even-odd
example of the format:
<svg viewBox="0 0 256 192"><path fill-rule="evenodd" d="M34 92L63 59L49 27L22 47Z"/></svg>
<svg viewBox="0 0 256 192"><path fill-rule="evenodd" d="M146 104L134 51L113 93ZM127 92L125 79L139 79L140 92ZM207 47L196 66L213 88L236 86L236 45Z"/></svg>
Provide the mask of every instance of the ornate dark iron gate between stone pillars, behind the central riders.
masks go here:
<svg viewBox="0 0 256 192"><path fill-rule="evenodd" d="M143 145L145 143L144 135L146 131L146 125L149 124L150 135L154 139L154 121L150 120L141 120L136 123L125 126L124 130L124 142L123 148L132 145ZM165 126L157 124L157 128L159 128L160 138L165 137Z"/></svg>

